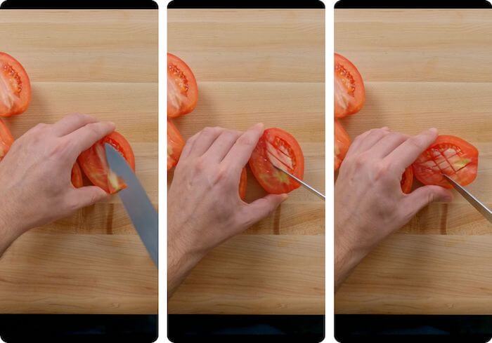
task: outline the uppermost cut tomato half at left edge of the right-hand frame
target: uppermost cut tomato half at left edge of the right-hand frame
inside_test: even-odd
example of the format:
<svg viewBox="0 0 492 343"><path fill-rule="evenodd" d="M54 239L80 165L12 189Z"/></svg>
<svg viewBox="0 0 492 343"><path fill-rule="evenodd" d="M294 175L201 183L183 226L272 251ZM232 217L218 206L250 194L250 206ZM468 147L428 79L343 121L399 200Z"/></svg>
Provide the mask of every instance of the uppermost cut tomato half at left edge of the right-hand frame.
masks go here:
<svg viewBox="0 0 492 343"><path fill-rule="evenodd" d="M361 110L365 101L362 76L347 58L335 53L335 118Z"/></svg>

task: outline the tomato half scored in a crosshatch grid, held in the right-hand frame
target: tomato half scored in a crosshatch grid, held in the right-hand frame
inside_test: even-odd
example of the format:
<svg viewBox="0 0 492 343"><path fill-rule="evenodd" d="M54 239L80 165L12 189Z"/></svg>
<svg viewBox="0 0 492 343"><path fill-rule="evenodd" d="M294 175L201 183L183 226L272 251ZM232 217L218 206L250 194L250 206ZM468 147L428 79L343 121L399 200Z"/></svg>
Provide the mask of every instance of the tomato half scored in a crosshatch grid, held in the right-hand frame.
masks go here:
<svg viewBox="0 0 492 343"><path fill-rule="evenodd" d="M434 143L413 163L413 174L423 184L453 188L442 173L466 186L477 177L479 152L461 138L439 135Z"/></svg>

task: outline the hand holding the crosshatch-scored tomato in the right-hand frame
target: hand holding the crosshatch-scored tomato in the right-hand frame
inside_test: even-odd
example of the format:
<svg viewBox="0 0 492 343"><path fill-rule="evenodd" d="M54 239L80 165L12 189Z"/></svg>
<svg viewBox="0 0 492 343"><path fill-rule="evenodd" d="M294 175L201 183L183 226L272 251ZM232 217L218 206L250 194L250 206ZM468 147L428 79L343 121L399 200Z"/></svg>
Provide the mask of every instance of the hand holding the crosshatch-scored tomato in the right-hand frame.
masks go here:
<svg viewBox="0 0 492 343"><path fill-rule="evenodd" d="M424 186L401 191L401 175L437 137L414 137L373 129L356 137L335 183L335 289L370 250L433 201L453 200L451 191Z"/></svg>

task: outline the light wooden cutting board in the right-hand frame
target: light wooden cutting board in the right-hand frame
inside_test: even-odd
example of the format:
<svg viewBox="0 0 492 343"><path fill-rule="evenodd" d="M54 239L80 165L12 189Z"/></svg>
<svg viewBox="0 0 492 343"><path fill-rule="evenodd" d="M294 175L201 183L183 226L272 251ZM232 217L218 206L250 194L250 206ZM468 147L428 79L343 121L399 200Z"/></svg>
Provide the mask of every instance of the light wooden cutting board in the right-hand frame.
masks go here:
<svg viewBox="0 0 492 343"><path fill-rule="evenodd" d="M365 107L344 120L416 134L429 127L479 149L467 187L492 207L492 11L337 10L335 51L354 62ZM339 314L492 314L492 225L455 193L423 209L360 264Z"/></svg>

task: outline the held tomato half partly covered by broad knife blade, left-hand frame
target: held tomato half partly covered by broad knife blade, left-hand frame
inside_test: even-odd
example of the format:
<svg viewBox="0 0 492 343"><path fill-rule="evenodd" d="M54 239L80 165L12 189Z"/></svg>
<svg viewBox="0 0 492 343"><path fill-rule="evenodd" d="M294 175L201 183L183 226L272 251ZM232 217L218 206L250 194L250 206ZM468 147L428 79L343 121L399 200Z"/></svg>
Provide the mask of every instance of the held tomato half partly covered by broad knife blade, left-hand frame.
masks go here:
<svg viewBox="0 0 492 343"><path fill-rule="evenodd" d="M84 174L93 184L113 194L124 189L127 185L110 170L106 160L104 143L111 144L127 160L131 169L135 170L134 151L131 149L129 142L116 131L93 144L85 152L82 152L78 162L82 170L84 170Z"/></svg>

